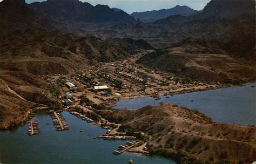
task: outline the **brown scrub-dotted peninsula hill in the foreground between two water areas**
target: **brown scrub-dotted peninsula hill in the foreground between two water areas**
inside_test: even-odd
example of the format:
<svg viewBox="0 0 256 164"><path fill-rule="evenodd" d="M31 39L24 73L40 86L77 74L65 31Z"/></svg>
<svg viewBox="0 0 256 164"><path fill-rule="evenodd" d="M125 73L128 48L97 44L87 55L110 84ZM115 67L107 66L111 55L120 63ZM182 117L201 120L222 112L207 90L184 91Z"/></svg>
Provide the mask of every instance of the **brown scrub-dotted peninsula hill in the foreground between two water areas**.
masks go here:
<svg viewBox="0 0 256 164"><path fill-rule="evenodd" d="M181 163L215 160L248 163L256 160L255 127L215 123L200 112L170 104L146 106L136 111L96 112L122 124L118 132L141 131L150 135L152 139L147 147L152 153Z"/></svg>

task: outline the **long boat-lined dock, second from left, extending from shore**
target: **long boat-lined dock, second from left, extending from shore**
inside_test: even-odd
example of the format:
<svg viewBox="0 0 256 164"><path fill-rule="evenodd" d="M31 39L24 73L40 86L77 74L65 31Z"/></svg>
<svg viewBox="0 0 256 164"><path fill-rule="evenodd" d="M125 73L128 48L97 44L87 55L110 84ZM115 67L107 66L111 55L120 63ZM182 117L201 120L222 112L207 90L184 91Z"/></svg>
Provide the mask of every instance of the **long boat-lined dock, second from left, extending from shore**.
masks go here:
<svg viewBox="0 0 256 164"><path fill-rule="evenodd" d="M50 111L50 115L52 118L53 125L56 126L56 131L65 131L69 129L69 126L61 113Z"/></svg>

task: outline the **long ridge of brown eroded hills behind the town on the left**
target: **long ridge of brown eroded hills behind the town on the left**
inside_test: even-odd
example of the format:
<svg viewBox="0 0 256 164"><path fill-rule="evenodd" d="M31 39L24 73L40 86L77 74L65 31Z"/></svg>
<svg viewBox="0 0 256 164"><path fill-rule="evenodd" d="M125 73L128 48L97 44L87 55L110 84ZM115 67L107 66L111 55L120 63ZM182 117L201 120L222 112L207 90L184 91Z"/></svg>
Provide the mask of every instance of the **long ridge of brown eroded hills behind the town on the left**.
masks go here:
<svg viewBox="0 0 256 164"><path fill-rule="evenodd" d="M66 74L153 49L144 40L100 39L44 30L17 30L0 38L0 68L33 74Z"/></svg>

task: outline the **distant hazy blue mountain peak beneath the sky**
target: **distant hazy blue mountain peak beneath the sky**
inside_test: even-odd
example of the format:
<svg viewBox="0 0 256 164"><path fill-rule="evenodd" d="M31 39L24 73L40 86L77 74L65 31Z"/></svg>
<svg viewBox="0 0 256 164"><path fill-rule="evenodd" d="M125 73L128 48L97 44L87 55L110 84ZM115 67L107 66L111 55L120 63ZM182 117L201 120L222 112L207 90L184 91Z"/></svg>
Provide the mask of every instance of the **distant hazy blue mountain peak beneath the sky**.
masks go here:
<svg viewBox="0 0 256 164"><path fill-rule="evenodd" d="M177 5L171 9L161 9L161 10L153 10L153 11L145 11L145 12L133 12L131 16L136 19L142 20L143 22L155 22L159 19L164 19L172 15L181 15L181 16L192 16L196 15L200 11L193 10L188 6L180 6Z"/></svg>

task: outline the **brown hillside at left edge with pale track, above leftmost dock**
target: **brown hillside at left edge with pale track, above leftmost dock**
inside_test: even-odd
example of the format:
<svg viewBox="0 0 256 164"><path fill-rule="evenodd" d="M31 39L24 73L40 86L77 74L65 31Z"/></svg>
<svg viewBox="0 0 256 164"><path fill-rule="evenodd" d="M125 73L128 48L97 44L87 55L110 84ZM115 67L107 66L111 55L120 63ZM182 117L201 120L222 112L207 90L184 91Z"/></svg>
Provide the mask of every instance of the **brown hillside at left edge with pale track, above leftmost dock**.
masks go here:
<svg viewBox="0 0 256 164"><path fill-rule="evenodd" d="M51 103L47 89L49 84L41 77L0 69L0 129L20 125L33 107Z"/></svg>

